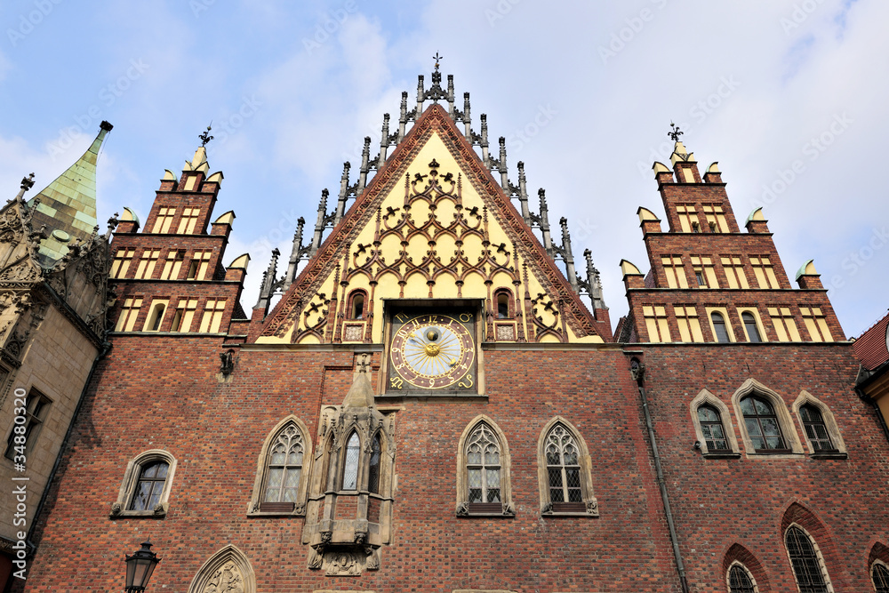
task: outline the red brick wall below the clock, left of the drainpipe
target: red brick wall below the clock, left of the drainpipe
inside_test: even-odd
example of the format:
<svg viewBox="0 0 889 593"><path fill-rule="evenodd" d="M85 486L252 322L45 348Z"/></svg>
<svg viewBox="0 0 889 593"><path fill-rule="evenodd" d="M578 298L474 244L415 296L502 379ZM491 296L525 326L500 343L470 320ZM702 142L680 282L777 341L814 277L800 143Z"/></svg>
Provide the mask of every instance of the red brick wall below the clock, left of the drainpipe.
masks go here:
<svg viewBox="0 0 889 593"><path fill-rule="evenodd" d="M209 338L116 337L37 534L33 590L62 580L71 590L119 588L122 555L146 536L164 558L156 590L185 591L229 542L249 557L260 590L678 590L637 390L619 351L488 351L487 398L405 400L396 412L394 542L380 571L344 580L308 570L301 517L248 518L246 509L268 431L294 413L315 437L320 405L340 404L348 390L352 353L243 351L232 382L220 384L217 348ZM455 516L457 442L480 413L509 440L515 518ZM555 415L589 447L601 517L541 518L537 443ZM152 448L179 462L169 513L108 519L126 462Z"/></svg>

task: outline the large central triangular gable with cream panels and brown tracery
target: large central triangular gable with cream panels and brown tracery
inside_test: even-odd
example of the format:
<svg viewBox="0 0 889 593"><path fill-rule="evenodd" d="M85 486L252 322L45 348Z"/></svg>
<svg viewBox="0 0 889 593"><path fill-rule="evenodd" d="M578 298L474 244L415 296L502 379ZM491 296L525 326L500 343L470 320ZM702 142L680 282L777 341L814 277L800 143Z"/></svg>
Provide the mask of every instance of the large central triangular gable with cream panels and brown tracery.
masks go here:
<svg viewBox="0 0 889 593"><path fill-rule="evenodd" d="M503 323L493 319L498 291L509 309ZM350 309L355 294L361 315ZM488 340L602 341L577 293L437 104L284 293L258 341L380 342L389 299L485 301Z"/></svg>

